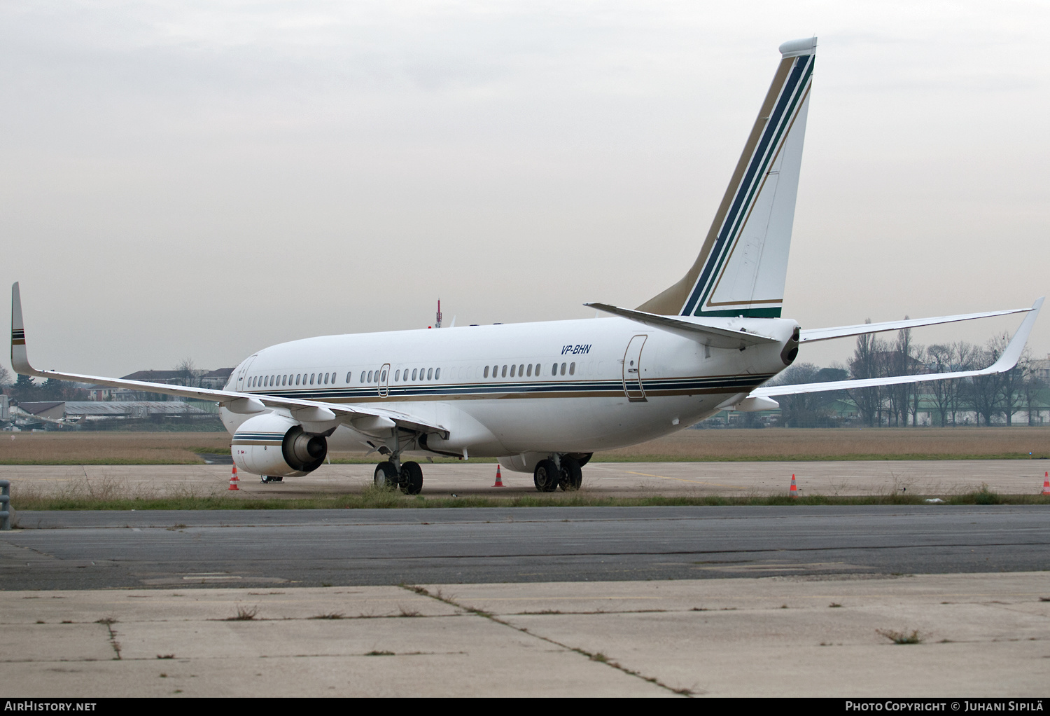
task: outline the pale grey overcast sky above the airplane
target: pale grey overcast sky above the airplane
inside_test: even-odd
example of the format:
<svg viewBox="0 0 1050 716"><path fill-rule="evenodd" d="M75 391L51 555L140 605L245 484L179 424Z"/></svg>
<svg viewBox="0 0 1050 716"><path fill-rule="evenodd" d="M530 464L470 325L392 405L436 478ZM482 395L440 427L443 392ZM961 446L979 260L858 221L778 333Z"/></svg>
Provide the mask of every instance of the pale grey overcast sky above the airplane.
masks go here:
<svg viewBox="0 0 1050 716"><path fill-rule="evenodd" d="M784 315L1028 306L1048 27L1009 1L7 0L0 285L34 363L103 375L423 327L438 298L459 325L633 307L694 260L777 46L817 35Z"/></svg>

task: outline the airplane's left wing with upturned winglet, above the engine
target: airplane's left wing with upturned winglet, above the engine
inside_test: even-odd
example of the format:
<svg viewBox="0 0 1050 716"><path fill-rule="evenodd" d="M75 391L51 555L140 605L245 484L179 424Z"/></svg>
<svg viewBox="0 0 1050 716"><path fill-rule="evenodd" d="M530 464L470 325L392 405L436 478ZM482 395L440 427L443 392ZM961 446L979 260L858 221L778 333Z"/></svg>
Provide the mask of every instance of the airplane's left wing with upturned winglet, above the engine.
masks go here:
<svg viewBox="0 0 1050 716"><path fill-rule="evenodd" d="M388 429L397 425L407 430L416 430L423 433L437 432L442 433L444 437L448 435L448 430L443 426L385 408L366 408L358 405L307 401L260 393L242 393L232 390L172 386L165 383L148 383L146 381L126 381L102 375L63 373L56 370L37 370L29 365L29 359L25 349L22 298L17 282L12 286L10 295L10 364L15 372L21 375L34 375L44 379L52 377L59 381L92 383L111 388L130 388L132 390L147 390L151 393L161 393L163 395L214 401L227 407L232 412L242 414L258 413L267 408L285 408L296 420L309 423L323 423L338 418L341 422L353 424L353 422L364 420L373 429ZM391 421L391 423L386 423L385 421Z"/></svg>

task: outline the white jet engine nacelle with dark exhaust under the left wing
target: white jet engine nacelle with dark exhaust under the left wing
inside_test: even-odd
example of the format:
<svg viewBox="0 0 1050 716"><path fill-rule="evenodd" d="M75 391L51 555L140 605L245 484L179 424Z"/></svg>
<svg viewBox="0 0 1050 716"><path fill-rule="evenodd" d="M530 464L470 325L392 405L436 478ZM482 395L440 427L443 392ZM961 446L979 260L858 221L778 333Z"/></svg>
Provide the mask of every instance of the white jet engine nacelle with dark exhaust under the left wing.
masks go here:
<svg viewBox="0 0 1050 716"><path fill-rule="evenodd" d="M328 455L324 435L306 432L297 421L279 413L256 415L233 433L233 462L239 470L273 477L300 477L321 466Z"/></svg>

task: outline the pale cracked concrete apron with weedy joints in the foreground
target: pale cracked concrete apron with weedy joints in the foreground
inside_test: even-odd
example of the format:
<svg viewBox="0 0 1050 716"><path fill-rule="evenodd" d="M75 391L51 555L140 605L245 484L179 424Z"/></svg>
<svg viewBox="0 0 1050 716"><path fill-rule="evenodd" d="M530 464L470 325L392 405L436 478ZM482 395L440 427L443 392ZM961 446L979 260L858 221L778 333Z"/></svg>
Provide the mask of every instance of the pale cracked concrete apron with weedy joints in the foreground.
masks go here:
<svg viewBox="0 0 1050 716"><path fill-rule="evenodd" d="M84 697L1047 693L1046 572L422 590L4 592L0 683Z"/></svg>

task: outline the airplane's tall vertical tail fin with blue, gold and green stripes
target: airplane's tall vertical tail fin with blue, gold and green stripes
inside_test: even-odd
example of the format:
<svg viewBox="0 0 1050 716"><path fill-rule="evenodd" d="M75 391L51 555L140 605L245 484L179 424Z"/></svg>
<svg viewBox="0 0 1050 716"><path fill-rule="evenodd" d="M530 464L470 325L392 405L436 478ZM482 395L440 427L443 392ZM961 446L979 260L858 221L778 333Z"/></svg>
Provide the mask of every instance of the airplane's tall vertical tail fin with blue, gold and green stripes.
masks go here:
<svg viewBox="0 0 1050 716"><path fill-rule="evenodd" d="M638 310L780 315L816 50L817 38L780 45L780 65L700 254L681 281Z"/></svg>

